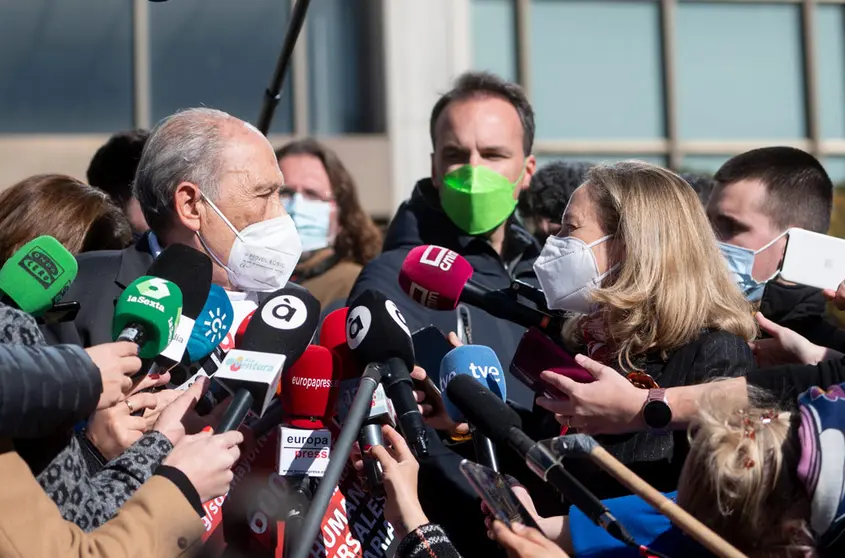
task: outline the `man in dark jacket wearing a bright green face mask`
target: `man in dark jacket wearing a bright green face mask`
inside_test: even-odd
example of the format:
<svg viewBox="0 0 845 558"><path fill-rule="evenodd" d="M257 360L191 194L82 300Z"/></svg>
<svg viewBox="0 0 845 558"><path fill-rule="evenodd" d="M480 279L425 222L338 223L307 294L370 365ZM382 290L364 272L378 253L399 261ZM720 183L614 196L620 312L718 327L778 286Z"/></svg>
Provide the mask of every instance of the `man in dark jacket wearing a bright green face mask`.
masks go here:
<svg viewBox="0 0 845 558"><path fill-rule="evenodd" d="M434 325L444 334L456 332L465 343L492 348L502 363L509 401L530 409L533 393L509 372L524 328L463 304L455 311L429 310L411 300L397 278L411 249L435 244L466 258L475 271L473 281L487 288L507 288L516 279L536 285L532 265L540 246L514 217L519 193L536 167L533 110L518 85L487 73L466 73L435 104L430 132L431 176L418 181L398 209L382 254L364 267L350 300L366 289L378 290L396 303L410 331ZM426 372L437 381L438 370ZM425 405L423 411L431 418ZM429 439L438 441L433 431ZM472 444L465 445L471 452ZM500 461L506 453L499 451ZM458 472L459 461L442 446L421 460L423 508L463 555L503 555L493 543L484 546L483 518L474 521L480 517L477 499ZM503 470L511 472L506 466L502 462Z"/></svg>

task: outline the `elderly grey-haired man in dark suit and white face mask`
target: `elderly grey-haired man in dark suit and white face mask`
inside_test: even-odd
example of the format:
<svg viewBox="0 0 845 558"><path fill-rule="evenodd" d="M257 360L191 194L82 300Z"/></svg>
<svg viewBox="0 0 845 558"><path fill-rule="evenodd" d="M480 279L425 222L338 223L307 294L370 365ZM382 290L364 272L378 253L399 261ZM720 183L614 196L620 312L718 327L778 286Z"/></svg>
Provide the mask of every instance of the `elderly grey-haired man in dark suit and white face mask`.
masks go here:
<svg viewBox="0 0 845 558"><path fill-rule="evenodd" d="M260 293L287 283L302 252L279 198L283 184L272 146L250 124L207 108L164 118L150 133L135 176L150 232L125 250L80 256L66 300L79 301L81 311L75 322L51 327L48 339L83 346L111 341L114 299L170 244L208 254L213 282L235 307L236 328ZM230 332L223 347L231 345Z"/></svg>

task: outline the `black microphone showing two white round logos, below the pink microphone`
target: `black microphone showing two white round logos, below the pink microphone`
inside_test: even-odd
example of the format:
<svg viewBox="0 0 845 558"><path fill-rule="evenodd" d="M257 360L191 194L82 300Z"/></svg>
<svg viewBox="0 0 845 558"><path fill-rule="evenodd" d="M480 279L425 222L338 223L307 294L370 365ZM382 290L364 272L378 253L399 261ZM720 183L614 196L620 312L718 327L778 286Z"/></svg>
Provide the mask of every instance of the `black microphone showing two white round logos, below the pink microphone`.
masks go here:
<svg viewBox="0 0 845 558"><path fill-rule="evenodd" d="M359 365L385 365L381 383L399 415L402 434L417 459L427 456L428 435L409 372L414 344L399 308L378 291L362 292L349 305L346 343Z"/></svg>

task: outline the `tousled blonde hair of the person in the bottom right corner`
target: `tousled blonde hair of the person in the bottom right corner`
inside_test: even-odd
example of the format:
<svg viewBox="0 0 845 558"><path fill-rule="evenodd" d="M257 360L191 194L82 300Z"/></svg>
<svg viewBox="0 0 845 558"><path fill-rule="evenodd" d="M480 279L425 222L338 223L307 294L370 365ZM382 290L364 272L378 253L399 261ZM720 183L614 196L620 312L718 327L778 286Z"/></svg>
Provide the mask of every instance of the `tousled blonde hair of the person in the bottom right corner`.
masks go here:
<svg viewBox="0 0 845 558"><path fill-rule="evenodd" d="M690 432L678 505L749 556L814 555L790 413L702 402Z"/></svg>

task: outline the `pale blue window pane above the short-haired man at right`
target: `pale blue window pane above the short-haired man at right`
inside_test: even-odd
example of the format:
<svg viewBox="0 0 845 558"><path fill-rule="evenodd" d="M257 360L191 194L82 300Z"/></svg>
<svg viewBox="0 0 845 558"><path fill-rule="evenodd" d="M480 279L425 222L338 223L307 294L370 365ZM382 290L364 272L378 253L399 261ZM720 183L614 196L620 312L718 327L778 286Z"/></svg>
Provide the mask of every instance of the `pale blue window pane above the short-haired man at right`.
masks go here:
<svg viewBox="0 0 845 558"><path fill-rule="evenodd" d="M800 31L798 4L678 4L681 138L804 137Z"/></svg>

